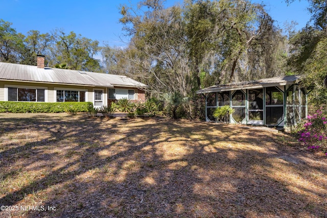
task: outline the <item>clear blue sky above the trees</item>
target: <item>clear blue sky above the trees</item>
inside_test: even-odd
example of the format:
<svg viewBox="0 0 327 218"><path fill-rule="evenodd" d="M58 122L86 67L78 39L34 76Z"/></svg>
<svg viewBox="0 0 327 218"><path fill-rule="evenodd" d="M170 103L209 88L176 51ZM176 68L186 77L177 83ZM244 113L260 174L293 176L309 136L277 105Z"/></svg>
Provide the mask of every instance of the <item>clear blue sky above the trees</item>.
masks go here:
<svg viewBox="0 0 327 218"><path fill-rule="evenodd" d="M12 23L17 33L26 34L30 30L50 33L63 29L65 33L74 31L82 37L98 40L100 45L124 46L124 32L119 23L121 4L136 5L139 0L0 0L0 19ZM166 7L181 4L182 0L167 0ZM265 9L275 20L276 25L284 28L285 21L296 21L299 30L306 26L310 14L306 10L306 0L289 6L285 0L251 0L252 3L263 3Z"/></svg>

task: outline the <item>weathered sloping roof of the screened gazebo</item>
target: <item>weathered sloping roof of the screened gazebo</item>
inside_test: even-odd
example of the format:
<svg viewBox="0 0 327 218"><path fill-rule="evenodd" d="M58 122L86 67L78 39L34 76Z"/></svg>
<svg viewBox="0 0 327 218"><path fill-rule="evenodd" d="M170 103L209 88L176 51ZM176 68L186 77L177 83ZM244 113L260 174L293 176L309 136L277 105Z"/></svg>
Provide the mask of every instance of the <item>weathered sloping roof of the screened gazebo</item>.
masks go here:
<svg viewBox="0 0 327 218"><path fill-rule="evenodd" d="M200 89L196 91L196 93L200 94L200 93L230 91L230 90L239 90L239 89L284 86L289 84L295 84L298 82L299 79L300 79L300 75L292 75L292 76L272 77L267 79L244 81L244 82L234 82L234 83L210 86L204 89Z"/></svg>

